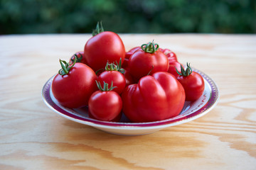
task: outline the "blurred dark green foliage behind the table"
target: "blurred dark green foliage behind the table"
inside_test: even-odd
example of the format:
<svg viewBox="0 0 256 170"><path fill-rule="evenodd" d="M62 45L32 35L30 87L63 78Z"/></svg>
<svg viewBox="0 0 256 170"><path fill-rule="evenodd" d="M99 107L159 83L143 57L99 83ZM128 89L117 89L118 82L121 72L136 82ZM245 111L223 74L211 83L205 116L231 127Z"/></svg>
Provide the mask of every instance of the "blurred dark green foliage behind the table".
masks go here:
<svg viewBox="0 0 256 170"><path fill-rule="evenodd" d="M256 33L255 0L0 0L0 34Z"/></svg>

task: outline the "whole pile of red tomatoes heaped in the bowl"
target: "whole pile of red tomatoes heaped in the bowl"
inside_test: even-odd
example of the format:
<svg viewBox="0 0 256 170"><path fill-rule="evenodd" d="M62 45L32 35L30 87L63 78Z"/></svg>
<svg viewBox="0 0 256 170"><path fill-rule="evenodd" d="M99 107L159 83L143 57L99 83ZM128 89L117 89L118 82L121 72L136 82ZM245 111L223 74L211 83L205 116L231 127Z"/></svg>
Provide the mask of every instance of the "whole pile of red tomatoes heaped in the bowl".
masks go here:
<svg viewBox="0 0 256 170"><path fill-rule="evenodd" d="M204 91L201 75L190 64L184 69L171 50L153 41L126 52L119 35L99 23L84 51L60 65L53 96L68 108L88 107L97 120L119 121L122 113L137 123L164 120Z"/></svg>

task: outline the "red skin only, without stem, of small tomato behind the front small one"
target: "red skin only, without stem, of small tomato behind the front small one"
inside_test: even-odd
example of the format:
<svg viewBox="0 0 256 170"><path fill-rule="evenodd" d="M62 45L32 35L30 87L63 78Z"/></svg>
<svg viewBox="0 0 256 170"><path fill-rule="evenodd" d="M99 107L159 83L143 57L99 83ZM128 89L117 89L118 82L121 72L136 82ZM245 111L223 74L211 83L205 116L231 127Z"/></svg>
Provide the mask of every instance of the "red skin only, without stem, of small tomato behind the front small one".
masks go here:
<svg viewBox="0 0 256 170"><path fill-rule="evenodd" d="M104 81L107 84L111 84L113 82L113 86L116 86L116 88L114 88L112 91L117 92L117 94L121 94L126 85L124 75L118 71L102 72L97 80L100 81L100 84L103 84Z"/></svg>

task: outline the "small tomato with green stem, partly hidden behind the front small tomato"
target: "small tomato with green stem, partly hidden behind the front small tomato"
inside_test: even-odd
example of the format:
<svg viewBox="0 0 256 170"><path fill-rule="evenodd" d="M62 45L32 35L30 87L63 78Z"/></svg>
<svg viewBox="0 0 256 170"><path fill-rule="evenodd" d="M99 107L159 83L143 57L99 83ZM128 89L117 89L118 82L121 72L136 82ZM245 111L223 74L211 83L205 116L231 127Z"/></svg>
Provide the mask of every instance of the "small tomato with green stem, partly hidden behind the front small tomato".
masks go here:
<svg viewBox="0 0 256 170"><path fill-rule="evenodd" d="M123 70L120 67L121 60L119 65L113 63L109 64L107 62L105 72L102 72L97 78L97 80L100 81L100 84L103 84L104 82L107 84L113 83L113 86L116 87L113 91L117 92L117 94L121 94L126 85L124 74L122 74Z"/></svg>

